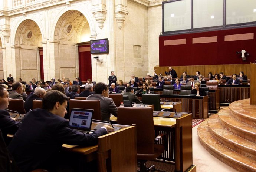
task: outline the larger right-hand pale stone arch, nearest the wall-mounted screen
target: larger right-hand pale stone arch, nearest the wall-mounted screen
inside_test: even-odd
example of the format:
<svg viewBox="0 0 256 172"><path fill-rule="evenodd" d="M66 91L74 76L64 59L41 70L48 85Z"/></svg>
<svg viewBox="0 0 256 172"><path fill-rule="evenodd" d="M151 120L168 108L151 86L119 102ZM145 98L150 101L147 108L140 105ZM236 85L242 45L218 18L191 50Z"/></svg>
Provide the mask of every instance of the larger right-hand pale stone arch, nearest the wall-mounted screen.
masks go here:
<svg viewBox="0 0 256 172"><path fill-rule="evenodd" d="M92 14L89 12L90 10L85 10L85 9L82 9L81 7L78 7L78 6L72 6L72 7L66 7L65 9L63 9L62 11L60 11L58 13L58 15L55 17L55 21L53 22L53 29L52 29L52 33L51 35L53 36L53 40L58 40L58 32L60 31L59 28L60 28L60 23L63 21L63 19L70 13L76 11L77 13L81 14L81 16L84 17L84 19L86 20L83 20L83 22L85 23L88 23L89 25L89 28L90 28L90 34L93 34L95 33L95 24L93 23L93 18L92 18ZM79 34L79 31L82 31L81 30L81 27L83 26L83 22L81 22L79 24L79 30L78 30L78 34Z"/></svg>

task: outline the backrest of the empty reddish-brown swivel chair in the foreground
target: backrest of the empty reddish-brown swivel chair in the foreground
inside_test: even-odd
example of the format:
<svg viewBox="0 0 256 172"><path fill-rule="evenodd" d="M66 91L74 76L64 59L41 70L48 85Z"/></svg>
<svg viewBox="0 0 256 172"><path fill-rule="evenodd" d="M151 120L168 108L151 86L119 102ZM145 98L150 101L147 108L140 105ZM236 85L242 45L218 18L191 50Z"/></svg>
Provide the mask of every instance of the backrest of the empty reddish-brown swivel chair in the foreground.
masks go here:
<svg viewBox="0 0 256 172"><path fill-rule="evenodd" d="M117 123L122 125L136 124L137 155L154 154L155 131L152 108L118 107Z"/></svg>

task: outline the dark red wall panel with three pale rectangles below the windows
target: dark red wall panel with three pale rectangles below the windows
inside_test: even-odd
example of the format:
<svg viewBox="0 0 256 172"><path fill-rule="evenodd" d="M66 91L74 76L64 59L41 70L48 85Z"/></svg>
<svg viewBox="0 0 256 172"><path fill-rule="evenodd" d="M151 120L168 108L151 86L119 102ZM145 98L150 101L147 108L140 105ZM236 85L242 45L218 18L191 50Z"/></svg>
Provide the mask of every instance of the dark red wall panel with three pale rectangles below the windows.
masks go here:
<svg viewBox="0 0 256 172"><path fill-rule="evenodd" d="M225 35L254 33L253 39L224 41ZM214 43L193 44L193 38L217 36ZM159 66L248 64L256 58L256 27L159 37ZM183 45L164 46L165 40L186 39ZM246 50L246 61L236 51Z"/></svg>

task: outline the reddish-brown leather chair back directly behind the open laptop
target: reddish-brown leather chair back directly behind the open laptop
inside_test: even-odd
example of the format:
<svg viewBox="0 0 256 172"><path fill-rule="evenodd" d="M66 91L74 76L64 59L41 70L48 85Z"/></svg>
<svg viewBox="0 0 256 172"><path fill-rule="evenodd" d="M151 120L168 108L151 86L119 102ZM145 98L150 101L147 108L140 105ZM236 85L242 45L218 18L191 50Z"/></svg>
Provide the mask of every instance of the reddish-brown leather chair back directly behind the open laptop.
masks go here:
<svg viewBox="0 0 256 172"><path fill-rule="evenodd" d="M93 109L92 119L101 120L101 104L99 100L69 100L69 114L72 108Z"/></svg>

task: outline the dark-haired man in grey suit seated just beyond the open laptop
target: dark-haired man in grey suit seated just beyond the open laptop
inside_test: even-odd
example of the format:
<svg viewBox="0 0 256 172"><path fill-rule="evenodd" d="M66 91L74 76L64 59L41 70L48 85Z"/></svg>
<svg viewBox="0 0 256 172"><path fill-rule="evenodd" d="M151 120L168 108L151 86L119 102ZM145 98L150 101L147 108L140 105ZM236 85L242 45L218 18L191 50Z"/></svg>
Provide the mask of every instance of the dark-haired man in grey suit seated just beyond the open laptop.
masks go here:
<svg viewBox="0 0 256 172"><path fill-rule="evenodd" d="M101 118L103 121L109 121L110 114L117 117L117 107L112 98L108 97L108 85L98 82L95 85L95 94L90 95L86 100L100 100Z"/></svg>

